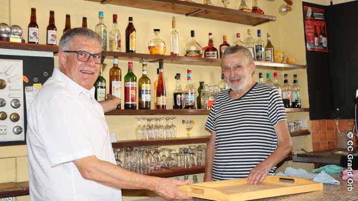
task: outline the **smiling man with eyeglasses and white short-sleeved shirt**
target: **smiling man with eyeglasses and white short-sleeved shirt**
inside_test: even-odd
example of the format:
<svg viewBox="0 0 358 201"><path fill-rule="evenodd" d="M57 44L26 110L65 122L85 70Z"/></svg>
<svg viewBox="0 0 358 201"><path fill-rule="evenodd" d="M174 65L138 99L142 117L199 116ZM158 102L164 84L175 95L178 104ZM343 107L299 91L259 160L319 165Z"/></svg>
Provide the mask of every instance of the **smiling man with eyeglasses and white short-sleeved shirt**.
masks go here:
<svg viewBox="0 0 358 201"><path fill-rule="evenodd" d="M121 200L121 188L149 189L167 199L188 199L178 185L188 181L130 172L116 165L104 111L118 100L99 104L102 39L92 30L67 31L59 43L55 69L33 100L27 147L31 200Z"/></svg>

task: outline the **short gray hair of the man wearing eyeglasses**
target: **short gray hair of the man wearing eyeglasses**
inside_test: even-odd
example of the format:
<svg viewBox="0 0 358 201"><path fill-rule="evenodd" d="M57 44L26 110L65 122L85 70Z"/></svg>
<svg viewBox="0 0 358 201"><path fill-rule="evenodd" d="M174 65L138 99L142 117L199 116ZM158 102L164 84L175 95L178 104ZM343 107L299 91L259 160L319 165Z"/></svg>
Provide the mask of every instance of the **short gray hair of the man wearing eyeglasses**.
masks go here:
<svg viewBox="0 0 358 201"><path fill-rule="evenodd" d="M84 36L87 40L96 39L102 46L102 38L91 29L73 28L62 35L58 44L58 51L69 50L73 45L73 38L75 36Z"/></svg>

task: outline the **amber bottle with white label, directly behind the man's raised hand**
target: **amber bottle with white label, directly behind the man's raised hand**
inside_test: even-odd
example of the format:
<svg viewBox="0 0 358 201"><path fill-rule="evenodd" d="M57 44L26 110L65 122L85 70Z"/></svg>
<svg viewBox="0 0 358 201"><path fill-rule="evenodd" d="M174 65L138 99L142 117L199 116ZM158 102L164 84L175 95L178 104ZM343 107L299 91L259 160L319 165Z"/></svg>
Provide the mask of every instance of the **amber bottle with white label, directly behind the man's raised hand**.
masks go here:
<svg viewBox="0 0 358 201"><path fill-rule="evenodd" d="M118 59L113 59L113 67L109 70L109 94L121 98L122 93L122 71L118 68ZM121 109L121 103L117 105Z"/></svg>

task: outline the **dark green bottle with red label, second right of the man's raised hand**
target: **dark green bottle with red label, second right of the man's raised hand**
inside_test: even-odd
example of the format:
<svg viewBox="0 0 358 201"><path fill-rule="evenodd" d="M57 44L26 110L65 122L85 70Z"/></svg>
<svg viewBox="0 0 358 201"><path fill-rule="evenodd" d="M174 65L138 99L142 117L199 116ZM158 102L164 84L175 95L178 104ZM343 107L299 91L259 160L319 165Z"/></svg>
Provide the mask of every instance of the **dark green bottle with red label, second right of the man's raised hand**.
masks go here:
<svg viewBox="0 0 358 201"><path fill-rule="evenodd" d="M124 109L137 109L137 77L133 73L133 62L128 62L128 73L124 76Z"/></svg>

